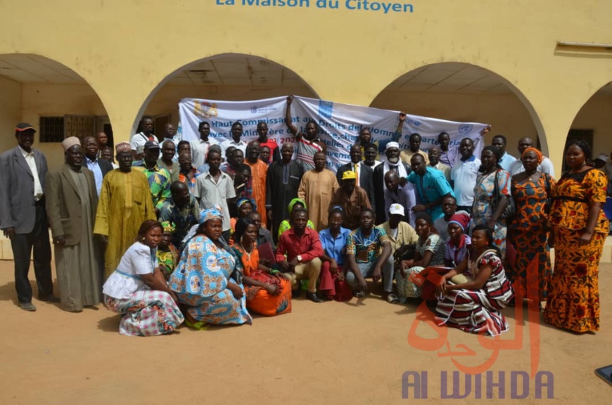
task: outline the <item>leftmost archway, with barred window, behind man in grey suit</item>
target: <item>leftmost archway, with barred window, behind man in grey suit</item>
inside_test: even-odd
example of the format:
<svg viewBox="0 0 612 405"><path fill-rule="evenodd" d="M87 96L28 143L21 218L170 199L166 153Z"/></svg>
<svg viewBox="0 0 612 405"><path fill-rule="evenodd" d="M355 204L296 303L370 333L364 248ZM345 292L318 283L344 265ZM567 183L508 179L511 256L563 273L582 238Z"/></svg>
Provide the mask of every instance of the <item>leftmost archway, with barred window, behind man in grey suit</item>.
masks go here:
<svg viewBox="0 0 612 405"><path fill-rule="evenodd" d="M46 155L49 168L63 164L60 142L67 136L95 136L113 129L96 91L74 70L39 55L0 55L0 131L13 134L15 124L37 128L34 146ZM0 150L15 146L12 136L0 138Z"/></svg>

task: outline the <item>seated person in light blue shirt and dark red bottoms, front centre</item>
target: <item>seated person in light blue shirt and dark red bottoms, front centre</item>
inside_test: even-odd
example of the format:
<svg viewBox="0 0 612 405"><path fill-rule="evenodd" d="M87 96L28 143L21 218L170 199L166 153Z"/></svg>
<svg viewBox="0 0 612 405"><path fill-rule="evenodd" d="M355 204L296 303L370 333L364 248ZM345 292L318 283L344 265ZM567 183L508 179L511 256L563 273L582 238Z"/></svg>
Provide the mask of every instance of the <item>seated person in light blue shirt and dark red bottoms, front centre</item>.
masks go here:
<svg viewBox="0 0 612 405"><path fill-rule="evenodd" d="M344 210L336 205L329 210L329 228L319 232L321 247L321 274L319 291L327 300L347 301L352 298L352 290L344 279L344 262L346 255L346 237L350 229L342 227Z"/></svg>

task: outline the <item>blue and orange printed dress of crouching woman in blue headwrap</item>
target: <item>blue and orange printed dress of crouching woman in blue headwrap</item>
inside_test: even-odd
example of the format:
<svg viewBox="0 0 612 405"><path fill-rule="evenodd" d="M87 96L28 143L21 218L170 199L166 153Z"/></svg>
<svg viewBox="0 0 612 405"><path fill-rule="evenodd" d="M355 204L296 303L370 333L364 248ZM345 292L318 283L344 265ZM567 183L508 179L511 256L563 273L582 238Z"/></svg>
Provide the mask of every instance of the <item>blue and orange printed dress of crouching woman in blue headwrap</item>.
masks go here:
<svg viewBox="0 0 612 405"><path fill-rule="evenodd" d="M186 244L170 276L170 289L177 293L179 302L187 306L187 313L197 321L211 325L251 323L246 295L236 300L227 290L235 266L236 258L228 250L219 248L205 235L196 235Z"/></svg>

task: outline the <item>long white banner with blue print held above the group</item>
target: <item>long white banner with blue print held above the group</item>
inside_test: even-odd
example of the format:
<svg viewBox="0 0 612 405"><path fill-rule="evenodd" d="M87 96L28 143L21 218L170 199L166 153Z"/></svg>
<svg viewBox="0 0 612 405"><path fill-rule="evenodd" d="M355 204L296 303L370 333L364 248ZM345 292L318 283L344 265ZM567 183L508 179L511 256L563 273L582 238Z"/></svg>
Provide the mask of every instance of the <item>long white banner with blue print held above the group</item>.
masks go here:
<svg viewBox="0 0 612 405"><path fill-rule="evenodd" d="M181 139L198 139L198 124L210 124L210 136L221 142L231 139L231 124L243 124L243 140L257 139L257 122L268 124L269 137L280 144L295 142L284 122L286 97L265 98L253 101L215 101L199 98L183 98L179 102L179 134ZM355 143L363 127L370 129L374 141L391 139L399 122L399 111L380 110L360 105L340 104L295 96L291 105L293 123L305 131L307 122L319 124L319 137L327 145L328 166L334 170L349 162L350 146ZM406 115L400 149L409 148L410 134L421 135L421 150L438 143L438 134L445 131L450 135L450 148L458 148L461 139L474 142L474 154L480 156L483 149L482 131L487 125L476 122L454 122L437 118Z"/></svg>

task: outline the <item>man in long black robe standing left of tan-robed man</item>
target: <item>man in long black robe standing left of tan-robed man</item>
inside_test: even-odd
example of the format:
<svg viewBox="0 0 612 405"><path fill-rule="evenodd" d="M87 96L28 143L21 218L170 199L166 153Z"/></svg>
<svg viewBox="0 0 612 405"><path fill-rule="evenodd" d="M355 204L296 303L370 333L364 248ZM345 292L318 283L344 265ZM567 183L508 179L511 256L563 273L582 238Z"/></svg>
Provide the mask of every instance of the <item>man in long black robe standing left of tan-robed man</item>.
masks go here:
<svg viewBox="0 0 612 405"><path fill-rule="evenodd" d="M266 180L266 210L274 238L279 233L279 225L287 217L287 205L298 197L298 188L304 175L302 165L293 160L293 144L283 143L281 156L281 160L272 162L268 167Z"/></svg>

